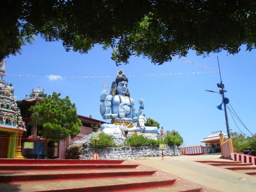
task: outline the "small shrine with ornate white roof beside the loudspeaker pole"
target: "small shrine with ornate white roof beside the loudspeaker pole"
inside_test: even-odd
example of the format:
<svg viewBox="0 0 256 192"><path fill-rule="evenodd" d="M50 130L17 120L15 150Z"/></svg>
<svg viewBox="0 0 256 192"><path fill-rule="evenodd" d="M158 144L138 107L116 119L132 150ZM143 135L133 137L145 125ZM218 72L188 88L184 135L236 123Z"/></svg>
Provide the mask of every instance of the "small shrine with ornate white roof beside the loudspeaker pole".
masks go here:
<svg viewBox="0 0 256 192"><path fill-rule="evenodd" d="M222 131L214 131L208 137L203 138L200 142L205 143L206 153L220 153L220 136L223 139L228 139L225 133Z"/></svg>

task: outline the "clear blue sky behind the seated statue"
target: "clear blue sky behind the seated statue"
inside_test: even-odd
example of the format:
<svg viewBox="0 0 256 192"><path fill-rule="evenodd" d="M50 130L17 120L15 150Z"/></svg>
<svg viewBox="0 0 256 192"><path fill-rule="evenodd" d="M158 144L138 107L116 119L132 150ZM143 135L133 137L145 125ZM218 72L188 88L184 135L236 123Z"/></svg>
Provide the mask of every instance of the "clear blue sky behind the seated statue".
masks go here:
<svg viewBox="0 0 256 192"><path fill-rule="evenodd" d="M190 51L187 57L173 58L161 66L132 57L129 64L119 67L111 60L111 52L95 46L88 54L80 55L66 52L61 42L44 42L37 37L32 45L22 47L21 55L4 59L8 74L4 79L13 84L16 100L40 86L47 94L55 91L61 97L68 95L79 115L103 120L99 112L102 83L111 85L116 72L122 69L129 79L128 89L136 109L139 99L144 99L146 118L158 121L165 131L178 131L184 146L200 145L200 139L213 131L227 133L224 111L216 108L222 102L221 96L205 91L219 91L218 56L225 96L245 126L256 132L255 50L248 52L242 47L236 55L223 51L206 58ZM228 119L233 132L241 130L250 135L235 118L240 130L237 128L229 111Z"/></svg>

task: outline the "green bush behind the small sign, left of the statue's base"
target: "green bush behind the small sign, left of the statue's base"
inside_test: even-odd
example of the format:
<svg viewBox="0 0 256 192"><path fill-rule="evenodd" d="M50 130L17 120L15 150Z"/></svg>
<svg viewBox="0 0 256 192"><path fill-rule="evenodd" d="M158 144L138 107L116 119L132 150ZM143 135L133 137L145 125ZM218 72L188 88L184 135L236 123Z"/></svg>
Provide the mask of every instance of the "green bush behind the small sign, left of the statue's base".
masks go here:
<svg viewBox="0 0 256 192"><path fill-rule="evenodd" d="M100 139L96 140L97 148L116 147L113 135L100 133ZM91 139L91 147L95 147L95 140Z"/></svg>

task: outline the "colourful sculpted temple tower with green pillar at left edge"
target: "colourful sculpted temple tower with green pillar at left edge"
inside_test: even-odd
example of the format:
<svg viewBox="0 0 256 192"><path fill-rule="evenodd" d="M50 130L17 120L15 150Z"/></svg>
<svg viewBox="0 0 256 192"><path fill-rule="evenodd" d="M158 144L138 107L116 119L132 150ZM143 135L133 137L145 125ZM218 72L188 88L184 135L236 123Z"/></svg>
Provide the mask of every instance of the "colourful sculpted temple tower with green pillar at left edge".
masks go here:
<svg viewBox="0 0 256 192"><path fill-rule="evenodd" d="M14 87L5 82L6 62L0 62L0 158L24 158L21 137L26 132L21 112L14 99Z"/></svg>

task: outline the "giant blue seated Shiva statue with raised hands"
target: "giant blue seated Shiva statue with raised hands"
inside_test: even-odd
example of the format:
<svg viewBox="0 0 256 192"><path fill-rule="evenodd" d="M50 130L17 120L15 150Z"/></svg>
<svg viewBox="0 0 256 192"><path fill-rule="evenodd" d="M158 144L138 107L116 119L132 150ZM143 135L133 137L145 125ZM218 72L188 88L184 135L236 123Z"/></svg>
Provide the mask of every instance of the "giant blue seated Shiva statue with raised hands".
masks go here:
<svg viewBox="0 0 256 192"><path fill-rule="evenodd" d="M100 113L103 119L111 119L111 124L104 123L101 130L106 134L117 134L117 137L128 132L158 133L157 127L147 127L147 119L141 115L144 109L143 99L139 100L139 110L136 111L134 100L128 91L128 78L122 70L117 72L116 80L112 82L110 94L103 90L100 94ZM137 126L133 123L137 122ZM116 137L115 136L115 137Z"/></svg>

